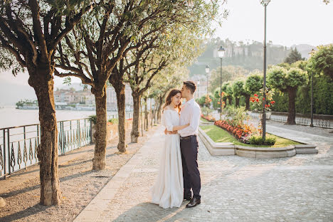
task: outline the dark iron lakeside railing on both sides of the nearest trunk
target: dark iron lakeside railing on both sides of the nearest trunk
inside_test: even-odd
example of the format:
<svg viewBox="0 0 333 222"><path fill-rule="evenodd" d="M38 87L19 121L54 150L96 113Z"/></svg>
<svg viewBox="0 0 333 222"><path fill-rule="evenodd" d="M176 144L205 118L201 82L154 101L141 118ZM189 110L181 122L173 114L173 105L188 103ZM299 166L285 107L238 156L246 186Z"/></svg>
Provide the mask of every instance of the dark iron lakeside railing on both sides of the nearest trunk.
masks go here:
<svg viewBox="0 0 333 222"><path fill-rule="evenodd" d="M91 143L91 122L88 119L57 122L58 154L64 155ZM37 147L41 143L41 127L24 125L0 129L0 177L33 164L38 164Z"/></svg>

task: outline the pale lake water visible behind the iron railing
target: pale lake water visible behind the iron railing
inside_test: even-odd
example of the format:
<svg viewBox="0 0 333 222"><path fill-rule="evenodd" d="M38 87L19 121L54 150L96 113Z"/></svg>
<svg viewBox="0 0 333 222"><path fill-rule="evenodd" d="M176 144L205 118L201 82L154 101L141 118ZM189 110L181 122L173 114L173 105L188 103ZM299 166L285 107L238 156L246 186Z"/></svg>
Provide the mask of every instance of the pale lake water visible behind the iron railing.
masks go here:
<svg viewBox="0 0 333 222"><path fill-rule="evenodd" d="M116 113L107 112L107 115ZM56 110L57 121L82 119L95 114L95 111ZM14 106L0 108L0 128L38 123L38 110L17 110Z"/></svg>

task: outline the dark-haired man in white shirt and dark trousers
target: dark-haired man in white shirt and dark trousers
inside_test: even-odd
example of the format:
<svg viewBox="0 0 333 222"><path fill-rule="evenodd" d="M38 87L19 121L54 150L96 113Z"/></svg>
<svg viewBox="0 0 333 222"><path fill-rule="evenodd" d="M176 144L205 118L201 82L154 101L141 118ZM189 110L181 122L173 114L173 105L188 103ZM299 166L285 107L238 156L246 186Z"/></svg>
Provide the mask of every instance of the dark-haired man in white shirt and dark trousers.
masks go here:
<svg viewBox="0 0 333 222"><path fill-rule="evenodd" d="M178 130L180 134L181 160L183 163L184 176L184 199L190 201L186 207L194 207L201 203L200 189L201 179L198 169L198 127L200 119L200 107L194 101L193 95L196 84L192 81L184 82L181 88L181 97L186 99L181 107L179 125L190 124L189 127ZM193 191L193 198L191 195Z"/></svg>

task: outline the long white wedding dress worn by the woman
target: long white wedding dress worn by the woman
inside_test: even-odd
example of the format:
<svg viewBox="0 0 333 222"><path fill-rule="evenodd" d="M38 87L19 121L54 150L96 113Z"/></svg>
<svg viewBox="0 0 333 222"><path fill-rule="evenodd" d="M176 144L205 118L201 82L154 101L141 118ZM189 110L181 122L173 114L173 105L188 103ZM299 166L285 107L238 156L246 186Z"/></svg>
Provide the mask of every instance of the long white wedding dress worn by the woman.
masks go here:
<svg viewBox="0 0 333 222"><path fill-rule="evenodd" d="M162 125L171 131L179 125L179 114L176 110L164 110ZM181 164L179 134L164 135L164 147L160 154L159 174L151 189L152 203L162 208L179 207L183 202L184 181Z"/></svg>

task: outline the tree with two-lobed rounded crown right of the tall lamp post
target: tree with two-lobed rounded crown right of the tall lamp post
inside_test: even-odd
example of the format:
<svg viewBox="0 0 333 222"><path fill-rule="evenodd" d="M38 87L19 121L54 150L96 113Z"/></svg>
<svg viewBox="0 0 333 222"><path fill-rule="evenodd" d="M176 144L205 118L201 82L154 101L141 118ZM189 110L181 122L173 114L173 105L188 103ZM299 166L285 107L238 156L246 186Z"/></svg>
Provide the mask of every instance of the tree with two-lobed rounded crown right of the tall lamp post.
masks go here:
<svg viewBox="0 0 333 222"><path fill-rule="evenodd" d="M295 125L295 97L297 88L307 84L307 72L300 68L290 68L286 70L279 66L273 66L268 70L268 84L282 93L288 93L289 107L287 125Z"/></svg>

